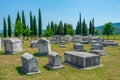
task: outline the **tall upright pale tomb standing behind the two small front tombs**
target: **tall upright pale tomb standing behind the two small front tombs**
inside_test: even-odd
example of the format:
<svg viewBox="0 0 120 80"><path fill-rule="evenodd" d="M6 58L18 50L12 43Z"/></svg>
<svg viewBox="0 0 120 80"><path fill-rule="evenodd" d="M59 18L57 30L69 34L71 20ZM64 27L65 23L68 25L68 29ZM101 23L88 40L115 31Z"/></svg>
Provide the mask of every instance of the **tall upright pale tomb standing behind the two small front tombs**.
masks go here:
<svg viewBox="0 0 120 80"><path fill-rule="evenodd" d="M46 39L41 39L38 41L38 54L45 56L48 55L48 53L51 52L51 45L50 41Z"/></svg>

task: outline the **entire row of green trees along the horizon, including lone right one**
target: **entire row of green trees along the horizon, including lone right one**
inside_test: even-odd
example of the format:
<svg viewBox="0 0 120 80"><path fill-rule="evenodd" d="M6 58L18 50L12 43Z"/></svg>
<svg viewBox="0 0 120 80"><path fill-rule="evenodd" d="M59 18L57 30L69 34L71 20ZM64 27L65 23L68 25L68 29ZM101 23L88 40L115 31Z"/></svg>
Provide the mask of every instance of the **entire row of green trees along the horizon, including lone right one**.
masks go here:
<svg viewBox="0 0 120 80"><path fill-rule="evenodd" d="M95 30L95 20L94 18L90 20L89 22L89 28L86 24L85 18L81 18L81 13L79 14L79 20L77 21L76 29L73 29L72 24L63 23L62 21L59 22L59 24L54 23L51 21L46 26L46 29L44 33L42 34L42 16L41 16L41 10L38 10L38 24L36 20L36 16L32 15L32 12L30 11L30 26L26 24L25 14L24 11L22 11L22 17L20 16L20 13L17 12L17 17L15 20L15 23L12 24L11 17L8 15L7 17L7 23L5 17L3 18L3 37L11 37L12 36L12 30L14 30L14 36L15 37L23 37L25 39L29 39L29 37L39 37L46 36L50 37L52 35L95 35L98 34L98 30ZM114 28L112 26L112 23L106 23L103 27L103 35L112 35L114 31Z"/></svg>

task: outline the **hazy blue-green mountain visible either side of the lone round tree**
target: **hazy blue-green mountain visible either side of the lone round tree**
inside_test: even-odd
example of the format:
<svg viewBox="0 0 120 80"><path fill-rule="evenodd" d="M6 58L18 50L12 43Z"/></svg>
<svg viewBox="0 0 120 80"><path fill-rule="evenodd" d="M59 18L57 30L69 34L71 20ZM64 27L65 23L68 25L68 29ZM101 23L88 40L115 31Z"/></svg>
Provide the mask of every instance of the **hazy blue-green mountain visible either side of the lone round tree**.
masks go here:
<svg viewBox="0 0 120 80"><path fill-rule="evenodd" d="M101 35L103 32L103 26L97 26L96 29L99 31L99 34ZM114 34L120 34L120 22L113 23L113 26L115 27Z"/></svg>

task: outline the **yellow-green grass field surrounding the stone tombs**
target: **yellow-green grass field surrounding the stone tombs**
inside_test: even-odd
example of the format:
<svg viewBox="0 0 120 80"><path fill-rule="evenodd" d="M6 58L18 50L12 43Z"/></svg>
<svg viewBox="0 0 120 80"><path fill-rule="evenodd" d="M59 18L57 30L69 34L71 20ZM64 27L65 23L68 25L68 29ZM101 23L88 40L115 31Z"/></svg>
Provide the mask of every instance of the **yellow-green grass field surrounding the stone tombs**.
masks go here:
<svg viewBox="0 0 120 80"><path fill-rule="evenodd" d="M116 42L120 43L119 40ZM64 61L64 52L72 51L72 43L67 44L66 48L58 45L51 45L52 51L59 53ZM120 45L120 44L119 44ZM85 45L87 51L90 45ZM109 56L101 57L101 68L91 70L79 70L68 65L63 65L63 69L49 70L45 67L48 63L47 57L37 56L37 48L31 48L29 41L23 44L24 52L29 52L39 59L39 69L42 73L35 75L25 75L21 71L21 55L6 55L0 51L0 80L120 80L120 46L105 47Z"/></svg>

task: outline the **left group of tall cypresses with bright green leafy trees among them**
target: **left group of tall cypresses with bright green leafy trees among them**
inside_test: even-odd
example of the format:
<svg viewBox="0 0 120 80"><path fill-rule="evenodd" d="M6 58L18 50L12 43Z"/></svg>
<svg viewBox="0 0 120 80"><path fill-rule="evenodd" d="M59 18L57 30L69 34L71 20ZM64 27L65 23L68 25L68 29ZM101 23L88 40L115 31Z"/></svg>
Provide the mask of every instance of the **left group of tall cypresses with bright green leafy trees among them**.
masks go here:
<svg viewBox="0 0 120 80"><path fill-rule="evenodd" d="M38 10L38 25L36 22L36 16L32 15L32 12L30 11L30 26L26 24L25 14L24 11L22 11L22 18L20 16L20 13L17 12L17 17L15 20L15 23L12 24L11 17L8 15L7 23L5 17L3 18L3 37L11 37L12 36L12 30L14 30L14 36L15 37L23 37L25 39L27 37L41 37L42 36L42 19L41 19L41 10Z"/></svg>

